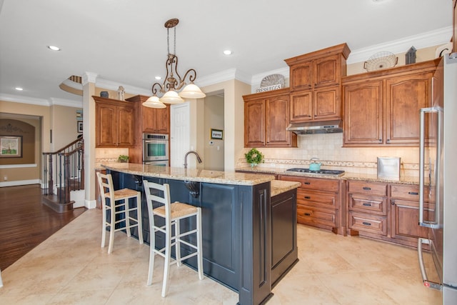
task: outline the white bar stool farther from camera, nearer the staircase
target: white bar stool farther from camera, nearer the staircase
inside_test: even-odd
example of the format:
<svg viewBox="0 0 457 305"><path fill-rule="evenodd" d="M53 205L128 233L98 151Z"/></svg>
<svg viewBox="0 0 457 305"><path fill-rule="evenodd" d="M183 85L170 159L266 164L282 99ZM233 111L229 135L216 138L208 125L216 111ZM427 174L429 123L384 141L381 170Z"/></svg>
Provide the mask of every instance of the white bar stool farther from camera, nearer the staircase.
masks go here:
<svg viewBox="0 0 457 305"><path fill-rule="evenodd" d="M119 189L114 191L113 177L111 174L96 173L99 179L101 194L101 210L103 211L101 227L101 247L105 246L106 228L109 228L108 253L113 251L114 232L126 230L127 236L131 235L130 229L138 228L138 239L143 244L143 226L141 225L141 192L133 189ZM136 206L131 207L129 199L136 199ZM106 212L109 210L109 220ZM136 213L132 213L136 212ZM136 214L136 216L132 216ZM119 215L119 216L118 216ZM116 216L118 216L116 219ZM131 222L133 221L133 224ZM122 225L124 223L124 225ZM120 224L116 228L116 224Z"/></svg>

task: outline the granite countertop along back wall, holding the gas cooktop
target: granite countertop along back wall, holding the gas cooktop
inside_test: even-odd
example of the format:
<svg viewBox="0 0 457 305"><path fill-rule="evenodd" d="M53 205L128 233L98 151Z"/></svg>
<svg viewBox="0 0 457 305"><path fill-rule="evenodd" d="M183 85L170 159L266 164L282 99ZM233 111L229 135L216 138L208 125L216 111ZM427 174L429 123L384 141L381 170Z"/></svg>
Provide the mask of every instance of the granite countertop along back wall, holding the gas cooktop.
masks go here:
<svg viewBox="0 0 457 305"><path fill-rule="evenodd" d="M247 171L256 174L272 174L272 175L285 175L285 176L298 176L298 177L313 177L313 178L323 178L323 179L344 179L344 180L363 180L363 181L372 181L372 182L385 182L385 183L395 183L395 184L419 184L419 177L412 176L401 176L400 180L393 179L382 179L378 178L377 175L371 174L356 174L351 172L346 172L342 176L337 175L324 175L324 174L311 174L311 173L299 173L296 171L286 171L286 169L280 169L275 167L240 167L236 169L237 171ZM427 181L426 181L427 183Z"/></svg>

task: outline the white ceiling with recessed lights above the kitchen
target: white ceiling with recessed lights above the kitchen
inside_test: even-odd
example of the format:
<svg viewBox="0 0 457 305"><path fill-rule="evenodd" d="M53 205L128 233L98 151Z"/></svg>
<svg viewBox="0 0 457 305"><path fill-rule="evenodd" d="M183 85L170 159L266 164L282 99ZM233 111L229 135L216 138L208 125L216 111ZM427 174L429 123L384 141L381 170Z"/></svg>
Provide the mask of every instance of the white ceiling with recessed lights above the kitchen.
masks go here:
<svg viewBox="0 0 457 305"><path fill-rule="evenodd" d="M376 46L394 51L392 41L411 42L404 51L444 43L451 8L452 0L0 0L0 99L80 102L59 84L84 72L149 94L165 74L171 18L179 19L179 72L194 68L196 84L210 84L228 70L250 81L286 69L283 59L343 42L349 62Z"/></svg>

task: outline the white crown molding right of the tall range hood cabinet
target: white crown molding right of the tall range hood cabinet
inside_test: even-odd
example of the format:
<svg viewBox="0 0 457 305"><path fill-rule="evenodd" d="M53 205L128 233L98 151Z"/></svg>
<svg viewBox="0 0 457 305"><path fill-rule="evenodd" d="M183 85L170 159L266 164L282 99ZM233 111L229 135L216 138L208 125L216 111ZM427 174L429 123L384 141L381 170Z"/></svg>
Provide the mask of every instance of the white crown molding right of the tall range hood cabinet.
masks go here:
<svg viewBox="0 0 457 305"><path fill-rule="evenodd" d="M376 44L366 48L352 51L348 56L347 64L355 64L358 62L366 61L371 55L381 51L389 51L393 54L406 53L411 46L416 49L428 48L429 46L438 46L446 44L451 41L452 26L437 29L435 31L428 31L422 34L408 36L402 39L388 41L383 44Z"/></svg>

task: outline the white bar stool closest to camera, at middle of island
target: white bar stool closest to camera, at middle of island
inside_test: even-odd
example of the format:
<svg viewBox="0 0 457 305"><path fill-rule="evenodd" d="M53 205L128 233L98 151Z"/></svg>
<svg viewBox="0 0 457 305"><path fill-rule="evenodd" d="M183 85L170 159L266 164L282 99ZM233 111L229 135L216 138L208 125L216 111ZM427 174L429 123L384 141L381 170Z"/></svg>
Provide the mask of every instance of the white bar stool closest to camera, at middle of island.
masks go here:
<svg viewBox="0 0 457 305"><path fill-rule="evenodd" d="M190 204L183 204L181 202L170 202L170 187L169 184L155 184L144 180L144 191L146 192L146 199L148 203L149 214L149 231L151 232L151 241L149 249L149 273L147 284L152 284L152 275L154 272L154 256L159 254L164 257L164 280L162 284L162 297L165 296L168 289L170 265L177 264L181 266L181 261L189 259L192 256L197 256L197 269L199 272L199 279L203 279L203 252L201 251L201 208L191 206ZM159 203L159 206L153 208L153 202ZM164 226L156 226L154 216L161 217L165 220ZM196 216L196 229L181 232L179 221L181 219ZM174 236L171 231L171 226L174 226ZM156 231L165 234L165 247L156 250L155 235ZM189 234L196 234L196 245L189 243L183 239L184 236ZM195 252L181 257L181 243L195 249ZM175 246L176 260L171 261L171 247Z"/></svg>

